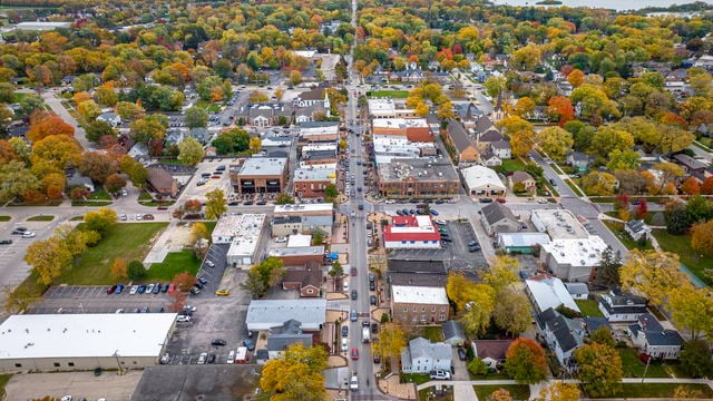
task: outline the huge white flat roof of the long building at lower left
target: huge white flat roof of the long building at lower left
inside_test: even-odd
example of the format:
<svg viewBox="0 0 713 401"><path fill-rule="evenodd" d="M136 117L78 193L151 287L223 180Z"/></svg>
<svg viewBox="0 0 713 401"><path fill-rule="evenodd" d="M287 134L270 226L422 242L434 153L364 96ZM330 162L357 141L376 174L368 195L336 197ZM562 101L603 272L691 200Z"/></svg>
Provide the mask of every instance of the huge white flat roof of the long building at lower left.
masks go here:
<svg viewBox="0 0 713 401"><path fill-rule="evenodd" d="M158 356L175 313L27 314L0 324L0 359Z"/></svg>

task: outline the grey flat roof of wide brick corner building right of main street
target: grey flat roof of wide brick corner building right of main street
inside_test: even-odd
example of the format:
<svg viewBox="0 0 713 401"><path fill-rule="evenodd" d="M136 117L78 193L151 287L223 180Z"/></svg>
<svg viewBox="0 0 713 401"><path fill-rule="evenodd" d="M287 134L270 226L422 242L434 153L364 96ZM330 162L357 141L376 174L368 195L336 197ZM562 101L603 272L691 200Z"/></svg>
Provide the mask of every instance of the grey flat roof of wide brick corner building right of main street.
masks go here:
<svg viewBox="0 0 713 401"><path fill-rule="evenodd" d="M406 178L452 182L458 180L458 174L448 159L394 158L391 163L379 165L379 179L400 182Z"/></svg>

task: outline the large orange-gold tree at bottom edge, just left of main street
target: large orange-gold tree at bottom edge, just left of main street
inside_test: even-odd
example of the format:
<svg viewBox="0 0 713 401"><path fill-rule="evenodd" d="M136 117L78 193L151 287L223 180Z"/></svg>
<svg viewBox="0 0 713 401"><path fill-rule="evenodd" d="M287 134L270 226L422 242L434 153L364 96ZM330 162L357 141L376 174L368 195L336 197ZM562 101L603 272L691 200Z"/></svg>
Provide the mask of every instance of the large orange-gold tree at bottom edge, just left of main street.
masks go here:
<svg viewBox="0 0 713 401"><path fill-rule="evenodd" d="M322 374L326 356L323 346L290 345L284 358L265 363L260 388L273 401L322 401L326 398Z"/></svg>

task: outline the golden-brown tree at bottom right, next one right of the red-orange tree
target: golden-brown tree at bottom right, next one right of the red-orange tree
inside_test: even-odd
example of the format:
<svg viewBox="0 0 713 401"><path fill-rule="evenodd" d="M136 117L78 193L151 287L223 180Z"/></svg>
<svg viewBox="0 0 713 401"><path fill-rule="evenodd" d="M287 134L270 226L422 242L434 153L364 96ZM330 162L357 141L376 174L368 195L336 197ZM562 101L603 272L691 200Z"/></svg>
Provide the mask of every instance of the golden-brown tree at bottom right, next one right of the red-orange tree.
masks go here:
<svg viewBox="0 0 713 401"><path fill-rule="evenodd" d="M613 346L592 343L575 350L579 380L589 397L612 395L621 390L622 358Z"/></svg>

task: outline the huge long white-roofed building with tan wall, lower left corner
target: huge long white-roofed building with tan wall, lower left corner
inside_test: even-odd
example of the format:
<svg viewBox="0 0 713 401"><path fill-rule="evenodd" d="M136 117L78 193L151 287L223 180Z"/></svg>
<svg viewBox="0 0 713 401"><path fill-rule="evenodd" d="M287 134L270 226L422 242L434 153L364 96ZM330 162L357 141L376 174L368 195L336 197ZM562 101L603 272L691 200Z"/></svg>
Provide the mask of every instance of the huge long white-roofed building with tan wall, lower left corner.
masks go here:
<svg viewBox="0 0 713 401"><path fill-rule="evenodd" d="M152 366L175 320L175 313L12 315L0 324L0 372Z"/></svg>

